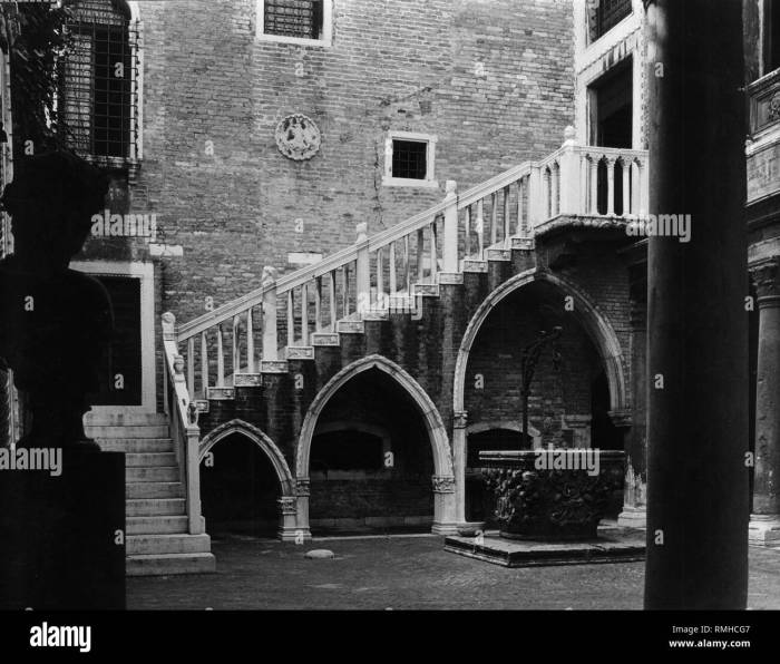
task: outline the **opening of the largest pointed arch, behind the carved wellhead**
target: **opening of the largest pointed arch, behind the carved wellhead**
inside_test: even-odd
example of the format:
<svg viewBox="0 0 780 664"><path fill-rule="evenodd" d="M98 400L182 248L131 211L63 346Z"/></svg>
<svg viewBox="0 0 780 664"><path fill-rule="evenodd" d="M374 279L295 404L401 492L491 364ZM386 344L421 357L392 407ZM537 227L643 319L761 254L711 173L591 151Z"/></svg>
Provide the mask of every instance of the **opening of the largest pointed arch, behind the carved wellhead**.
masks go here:
<svg viewBox="0 0 780 664"><path fill-rule="evenodd" d="M530 275L529 275L530 276ZM478 328L472 332L468 354L459 362L462 371L462 402L460 409L468 413L468 430L465 434L465 495L464 516L467 520L489 520L489 515L478 518L479 496L476 478L480 470L474 448L515 449L530 447L521 436L523 413L523 354L536 340L542 330L550 332L560 326L563 332L557 342L558 361L552 345L544 346L535 363L528 394L529 434L534 430L538 438L534 446L553 445L563 448L599 447L601 449L623 449L622 432L610 420L610 411L624 402L620 355L604 357L605 348L614 345L614 339L593 338L585 306L572 301L566 306L566 295L575 291L562 291L545 275L526 279L500 297L495 297L493 306L485 311ZM542 277L542 279L539 279ZM520 287L521 286L521 287ZM579 307L579 315L575 313ZM586 315L582 315L585 313ZM477 316L475 316L477 319ZM591 321L593 322L593 321ZM598 328L606 323L596 319ZM468 336L468 332L467 332ZM458 383L456 378L456 410ZM484 422L515 422L515 432L489 430L476 432L475 427ZM514 436L511 433L515 433ZM469 495L474 492L474 496ZM608 516L616 516L622 506L617 504ZM468 514L469 509L471 514ZM475 511L477 510L477 511ZM612 515L612 511L615 511Z"/></svg>

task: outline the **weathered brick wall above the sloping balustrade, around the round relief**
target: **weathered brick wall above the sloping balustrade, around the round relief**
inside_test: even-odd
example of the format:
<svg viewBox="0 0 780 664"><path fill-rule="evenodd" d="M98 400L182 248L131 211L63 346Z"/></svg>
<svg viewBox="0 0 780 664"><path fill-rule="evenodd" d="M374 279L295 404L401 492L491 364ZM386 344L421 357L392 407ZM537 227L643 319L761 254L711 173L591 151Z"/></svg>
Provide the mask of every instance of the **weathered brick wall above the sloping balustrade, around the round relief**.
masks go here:
<svg viewBox="0 0 780 664"><path fill-rule="evenodd" d="M567 0L335 0L332 48L259 41L254 0L139 6L134 195L184 248L163 260L162 310L179 321L256 287L289 252L328 254L357 222L373 233L423 209L446 179L469 186L555 149L572 121ZM276 149L292 113L322 131L311 160ZM438 191L382 186L389 129L438 136Z"/></svg>

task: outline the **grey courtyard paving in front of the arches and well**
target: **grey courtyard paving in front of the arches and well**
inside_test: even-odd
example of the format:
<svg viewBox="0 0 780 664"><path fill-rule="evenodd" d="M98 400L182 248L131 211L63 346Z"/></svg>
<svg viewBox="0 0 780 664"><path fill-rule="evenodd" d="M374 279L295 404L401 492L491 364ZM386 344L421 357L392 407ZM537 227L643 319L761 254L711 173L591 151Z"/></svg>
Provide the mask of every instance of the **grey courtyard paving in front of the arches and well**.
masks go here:
<svg viewBox="0 0 780 664"><path fill-rule="evenodd" d="M217 573L127 579L130 609L641 609L643 563L508 569L433 536L215 540ZM328 548L332 559L304 553ZM750 549L751 608L780 608L780 549Z"/></svg>

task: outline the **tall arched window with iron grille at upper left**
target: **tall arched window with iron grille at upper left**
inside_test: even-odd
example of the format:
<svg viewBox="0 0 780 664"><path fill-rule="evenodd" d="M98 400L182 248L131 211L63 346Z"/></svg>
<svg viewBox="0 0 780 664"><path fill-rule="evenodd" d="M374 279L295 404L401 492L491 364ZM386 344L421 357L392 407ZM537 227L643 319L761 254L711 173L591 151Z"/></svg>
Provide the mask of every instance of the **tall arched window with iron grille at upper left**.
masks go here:
<svg viewBox="0 0 780 664"><path fill-rule="evenodd" d="M100 165L138 155L138 20L124 0L70 0L70 47L61 68L61 128L68 145Z"/></svg>

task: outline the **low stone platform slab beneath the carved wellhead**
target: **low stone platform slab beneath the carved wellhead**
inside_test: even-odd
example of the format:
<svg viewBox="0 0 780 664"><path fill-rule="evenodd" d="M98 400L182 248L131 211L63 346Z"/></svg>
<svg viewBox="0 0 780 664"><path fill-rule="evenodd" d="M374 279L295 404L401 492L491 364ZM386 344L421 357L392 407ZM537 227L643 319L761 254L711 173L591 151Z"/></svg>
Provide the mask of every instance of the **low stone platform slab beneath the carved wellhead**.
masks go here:
<svg viewBox="0 0 780 664"><path fill-rule="evenodd" d="M644 560L645 534L633 528L599 528L594 540L550 543L505 539L497 530L488 530L481 544L475 537L446 537L445 550L504 567L628 563Z"/></svg>

